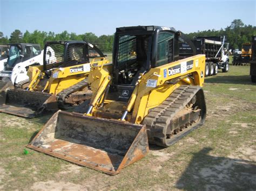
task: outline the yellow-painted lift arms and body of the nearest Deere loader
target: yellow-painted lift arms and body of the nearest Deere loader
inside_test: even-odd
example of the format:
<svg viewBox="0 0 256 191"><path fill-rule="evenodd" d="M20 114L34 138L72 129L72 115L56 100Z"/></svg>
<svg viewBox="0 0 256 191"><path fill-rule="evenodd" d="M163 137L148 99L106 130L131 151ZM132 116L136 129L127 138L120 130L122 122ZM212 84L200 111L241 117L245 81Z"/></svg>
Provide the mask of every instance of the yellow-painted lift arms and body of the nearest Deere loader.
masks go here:
<svg viewBox="0 0 256 191"><path fill-rule="evenodd" d="M193 61L193 66L189 69L183 70L183 73L175 74L173 67L178 65L186 66L186 62ZM197 66L196 66L197 65ZM112 67L112 66L111 66ZM105 66L103 68L93 68L89 75L90 86L93 91L92 101L91 103L100 104L99 94L97 95L97 91L100 86L106 88L107 83L103 83L106 76L112 76L111 71L112 68L110 66ZM183 69L184 69L183 67ZM170 70L170 71L169 71ZM131 111L130 114L127 115L128 121L131 123L140 124L144 117L149 113L149 110L157 107L163 101L166 100L167 97L172 94L174 90L176 90L181 85L194 85L194 86L203 86L204 84L204 72L205 72L205 55L199 54L195 56L191 56L189 58L185 58L182 60L174 61L171 63L167 63L166 65L159 66L157 68L151 68L146 74L142 75L142 78L138 81L136 88L134 88L132 96L129 102L126 105L126 108L118 107L119 112L123 112L125 110ZM166 73L166 76L165 76ZM190 77L188 75L191 75ZM156 87L147 87L148 80L156 80ZM168 82L177 82L175 84L170 84ZM97 95L97 96L96 96ZM103 97L103 96L102 96ZM95 99L95 100L93 100ZM105 100L105 105L109 105L107 107L108 111L117 110L117 105L122 105L123 103L114 101ZM110 104L111 103L111 104ZM93 108L93 112L100 110L102 108ZM121 110L121 111L120 111ZM93 116L92 112L92 116ZM120 115L121 117L121 115Z"/></svg>

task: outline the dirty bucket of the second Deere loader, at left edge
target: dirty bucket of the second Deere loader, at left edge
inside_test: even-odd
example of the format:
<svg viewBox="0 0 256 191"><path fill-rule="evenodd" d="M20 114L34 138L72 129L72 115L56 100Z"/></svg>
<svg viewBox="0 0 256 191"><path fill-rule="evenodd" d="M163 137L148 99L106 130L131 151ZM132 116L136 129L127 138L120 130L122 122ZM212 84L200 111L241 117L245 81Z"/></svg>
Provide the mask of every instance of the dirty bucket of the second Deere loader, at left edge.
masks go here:
<svg viewBox="0 0 256 191"><path fill-rule="evenodd" d="M24 89L0 92L0 112L22 117L38 117L58 110L56 96Z"/></svg>

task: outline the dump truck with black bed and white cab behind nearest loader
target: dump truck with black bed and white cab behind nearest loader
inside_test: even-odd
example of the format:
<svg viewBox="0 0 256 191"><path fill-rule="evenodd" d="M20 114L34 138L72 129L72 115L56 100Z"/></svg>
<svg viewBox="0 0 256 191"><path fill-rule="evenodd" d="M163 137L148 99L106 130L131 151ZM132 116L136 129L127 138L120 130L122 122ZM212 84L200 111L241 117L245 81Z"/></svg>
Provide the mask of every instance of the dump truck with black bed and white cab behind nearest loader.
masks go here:
<svg viewBox="0 0 256 191"><path fill-rule="evenodd" d="M191 41L196 46L197 54L206 55L205 77L217 75L218 69L221 69L222 72L228 72L229 51L228 43L225 43L225 36L195 37ZM192 48L181 41L179 43L180 58L187 58L192 54Z"/></svg>

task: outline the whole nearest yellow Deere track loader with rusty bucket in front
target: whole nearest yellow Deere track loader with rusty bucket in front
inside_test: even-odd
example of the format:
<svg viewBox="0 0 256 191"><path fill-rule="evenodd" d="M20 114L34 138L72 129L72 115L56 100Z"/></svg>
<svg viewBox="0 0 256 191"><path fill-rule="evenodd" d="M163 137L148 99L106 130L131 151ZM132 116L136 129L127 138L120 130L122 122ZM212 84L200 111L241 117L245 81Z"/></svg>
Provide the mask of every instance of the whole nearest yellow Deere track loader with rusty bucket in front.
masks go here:
<svg viewBox="0 0 256 191"><path fill-rule="evenodd" d="M167 147L205 121L205 55L179 60L170 27L117 28L113 64L92 67L86 114L59 110L28 147L105 173L143 158L149 143Z"/></svg>

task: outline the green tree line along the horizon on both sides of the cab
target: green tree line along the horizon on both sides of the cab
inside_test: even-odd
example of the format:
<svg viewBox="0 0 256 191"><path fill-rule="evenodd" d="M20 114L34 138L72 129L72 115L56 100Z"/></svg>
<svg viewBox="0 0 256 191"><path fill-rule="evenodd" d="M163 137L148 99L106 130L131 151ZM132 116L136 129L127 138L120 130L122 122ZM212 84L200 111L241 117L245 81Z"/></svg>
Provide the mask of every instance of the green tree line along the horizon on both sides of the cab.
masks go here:
<svg viewBox="0 0 256 191"><path fill-rule="evenodd" d="M245 25L241 19L234 19L230 26L220 30L206 30L188 33L188 38L197 36L225 36L226 42L230 44L231 49L241 49L242 43L250 43L252 36L256 35L256 27ZM84 34L76 34L75 32L55 34L54 32L45 32L35 30L32 33L26 31L24 34L20 30L15 30L11 33L10 38L4 37L3 32L0 32L0 44L6 43L32 43L40 44L43 48L46 41L56 40L84 40L88 43L95 44L103 52L112 52L114 35L102 35L97 37L92 32Z"/></svg>

